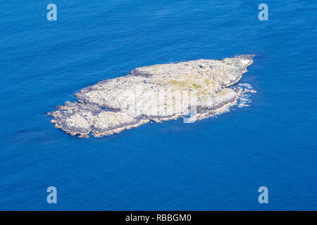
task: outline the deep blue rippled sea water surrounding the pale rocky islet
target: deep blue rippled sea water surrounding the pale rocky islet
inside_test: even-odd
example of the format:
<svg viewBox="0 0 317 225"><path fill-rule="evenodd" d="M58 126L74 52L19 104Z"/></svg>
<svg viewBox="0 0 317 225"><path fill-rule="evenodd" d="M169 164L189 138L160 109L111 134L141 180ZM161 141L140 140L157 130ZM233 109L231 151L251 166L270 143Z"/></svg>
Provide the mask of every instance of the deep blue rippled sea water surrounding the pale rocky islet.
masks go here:
<svg viewBox="0 0 317 225"><path fill-rule="evenodd" d="M316 1L50 3L0 2L0 210L317 210ZM217 118L78 139L46 115L139 66L243 53L258 93Z"/></svg>

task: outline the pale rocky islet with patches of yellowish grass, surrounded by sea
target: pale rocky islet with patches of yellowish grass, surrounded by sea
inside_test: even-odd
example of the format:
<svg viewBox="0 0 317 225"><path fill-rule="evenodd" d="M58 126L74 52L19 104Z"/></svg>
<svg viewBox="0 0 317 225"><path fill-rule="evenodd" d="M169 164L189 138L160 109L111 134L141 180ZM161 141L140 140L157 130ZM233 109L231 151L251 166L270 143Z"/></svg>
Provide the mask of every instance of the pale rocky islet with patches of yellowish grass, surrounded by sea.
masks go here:
<svg viewBox="0 0 317 225"><path fill-rule="evenodd" d="M66 102L48 114L56 128L80 137L111 135L185 115L190 115L186 122L194 122L232 105L248 106L247 93L256 91L249 84L232 85L252 63L251 55L243 55L136 68L82 89L77 102Z"/></svg>

